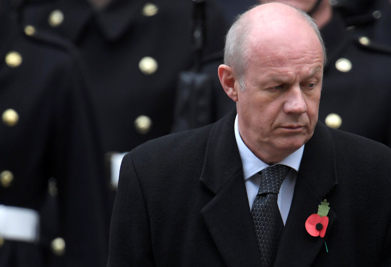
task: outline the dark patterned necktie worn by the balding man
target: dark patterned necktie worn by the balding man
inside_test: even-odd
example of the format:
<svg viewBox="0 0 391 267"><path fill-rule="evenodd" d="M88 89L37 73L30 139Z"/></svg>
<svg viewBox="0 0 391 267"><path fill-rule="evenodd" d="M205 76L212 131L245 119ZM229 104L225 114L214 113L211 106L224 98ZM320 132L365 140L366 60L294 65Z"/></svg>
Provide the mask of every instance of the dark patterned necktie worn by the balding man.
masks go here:
<svg viewBox="0 0 391 267"><path fill-rule="evenodd" d="M290 167L281 164L263 169L260 190L251 208L263 267L273 266L276 258L284 227L277 196L289 170Z"/></svg>

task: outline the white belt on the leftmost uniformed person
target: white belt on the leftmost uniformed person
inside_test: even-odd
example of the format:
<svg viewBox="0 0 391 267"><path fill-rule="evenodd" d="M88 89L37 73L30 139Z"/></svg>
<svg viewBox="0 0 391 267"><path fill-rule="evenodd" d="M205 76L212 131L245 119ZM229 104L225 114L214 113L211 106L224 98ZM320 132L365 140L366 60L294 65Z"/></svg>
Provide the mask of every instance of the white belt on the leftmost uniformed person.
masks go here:
<svg viewBox="0 0 391 267"><path fill-rule="evenodd" d="M36 210L0 205L0 237L38 242L40 216Z"/></svg>

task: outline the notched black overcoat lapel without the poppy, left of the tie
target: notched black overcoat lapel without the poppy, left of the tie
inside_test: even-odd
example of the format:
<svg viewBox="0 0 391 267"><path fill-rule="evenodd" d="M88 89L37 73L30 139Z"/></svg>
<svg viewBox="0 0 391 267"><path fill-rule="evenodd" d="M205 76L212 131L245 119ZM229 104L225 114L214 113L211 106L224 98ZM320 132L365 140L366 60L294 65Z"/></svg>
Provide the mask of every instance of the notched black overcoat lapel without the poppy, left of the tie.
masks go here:
<svg viewBox="0 0 391 267"><path fill-rule="evenodd" d="M215 197L201 213L227 266L261 266L235 140L235 116L233 110L209 136L200 180Z"/></svg>

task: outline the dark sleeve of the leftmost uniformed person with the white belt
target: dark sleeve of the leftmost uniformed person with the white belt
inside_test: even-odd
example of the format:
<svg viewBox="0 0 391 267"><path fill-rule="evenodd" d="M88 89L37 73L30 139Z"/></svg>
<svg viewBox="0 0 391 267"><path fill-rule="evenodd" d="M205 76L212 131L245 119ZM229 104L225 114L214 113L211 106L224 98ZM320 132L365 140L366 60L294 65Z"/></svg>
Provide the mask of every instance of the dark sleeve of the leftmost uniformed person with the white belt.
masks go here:
<svg viewBox="0 0 391 267"><path fill-rule="evenodd" d="M88 88L76 60L53 70L53 174L58 184L64 266L105 266L109 217L106 184Z"/></svg>

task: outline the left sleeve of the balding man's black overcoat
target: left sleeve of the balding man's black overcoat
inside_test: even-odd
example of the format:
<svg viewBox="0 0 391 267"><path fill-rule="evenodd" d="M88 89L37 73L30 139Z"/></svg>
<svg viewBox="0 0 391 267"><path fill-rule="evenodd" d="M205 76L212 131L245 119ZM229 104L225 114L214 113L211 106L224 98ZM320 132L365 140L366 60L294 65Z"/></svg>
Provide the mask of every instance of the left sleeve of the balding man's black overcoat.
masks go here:
<svg viewBox="0 0 391 267"><path fill-rule="evenodd" d="M154 266L147 205L130 154L121 164L107 266Z"/></svg>

